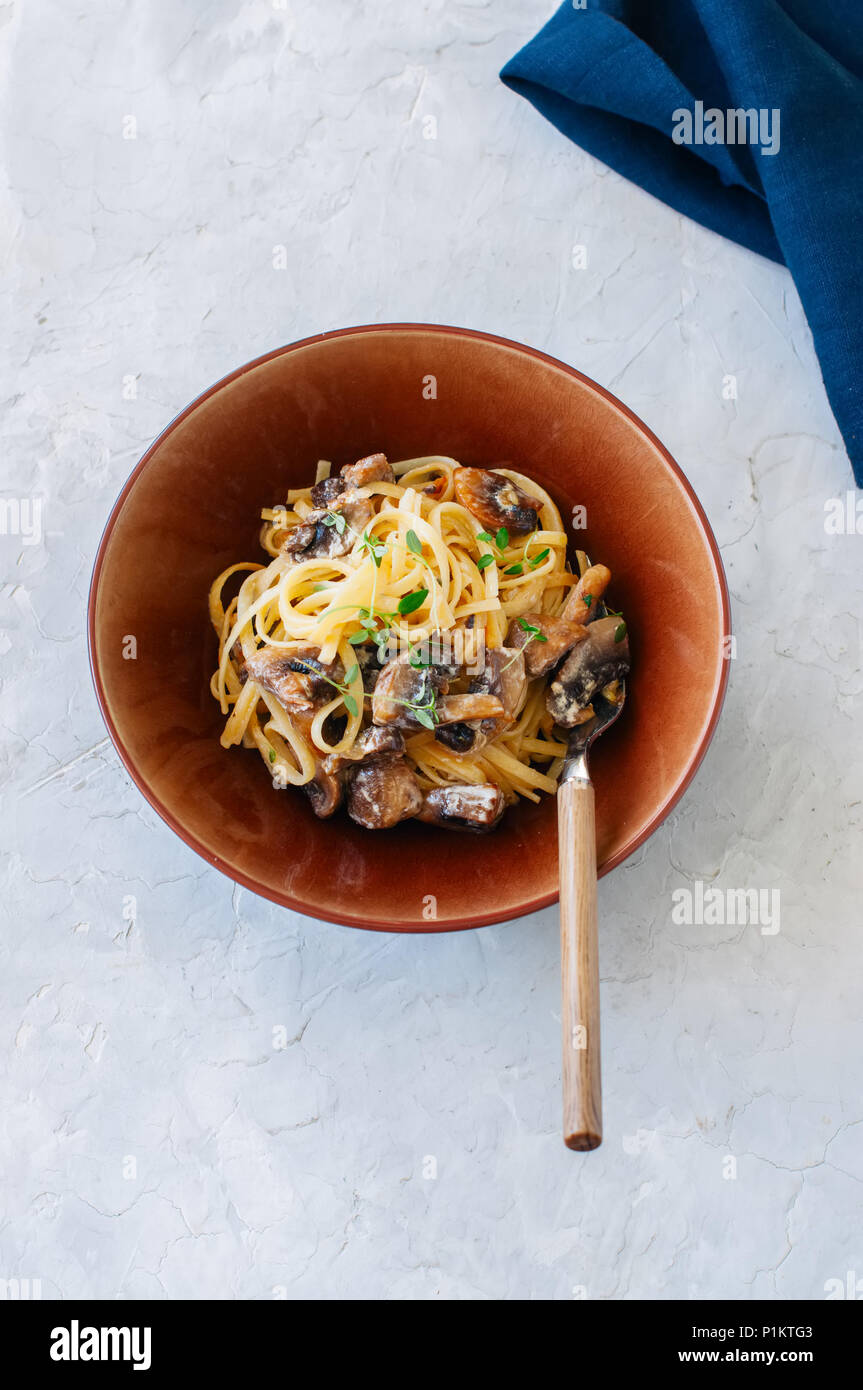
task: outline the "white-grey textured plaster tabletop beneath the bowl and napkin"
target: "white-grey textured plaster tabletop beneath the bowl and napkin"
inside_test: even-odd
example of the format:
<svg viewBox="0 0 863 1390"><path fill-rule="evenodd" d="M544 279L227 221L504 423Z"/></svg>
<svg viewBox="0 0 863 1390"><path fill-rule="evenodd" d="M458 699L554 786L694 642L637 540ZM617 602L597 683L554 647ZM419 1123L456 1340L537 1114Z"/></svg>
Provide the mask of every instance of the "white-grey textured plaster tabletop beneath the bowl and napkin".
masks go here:
<svg viewBox="0 0 863 1390"><path fill-rule="evenodd" d="M850 473L785 271L498 82L550 8L0 4L3 496L46 528L0 537L0 1276L44 1297L823 1298L863 1273L863 537L823 524ZM553 910L399 938L233 890L90 689L92 556L149 441L239 363L393 318L621 395L728 570L720 733L600 888L589 1156L559 1138ZM778 887L780 933L674 924L695 878Z"/></svg>

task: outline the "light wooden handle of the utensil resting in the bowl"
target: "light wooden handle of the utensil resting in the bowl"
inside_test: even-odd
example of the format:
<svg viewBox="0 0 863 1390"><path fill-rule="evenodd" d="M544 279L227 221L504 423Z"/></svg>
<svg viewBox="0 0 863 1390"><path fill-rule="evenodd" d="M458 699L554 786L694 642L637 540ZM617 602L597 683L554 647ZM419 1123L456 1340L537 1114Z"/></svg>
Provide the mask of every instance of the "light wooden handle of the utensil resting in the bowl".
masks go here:
<svg viewBox="0 0 863 1390"><path fill-rule="evenodd" d="M563 1141L602 1144L599 1065L599 941L596 933L596 819L586 778L557 790L560 965L563 1024Z"/></svg>

